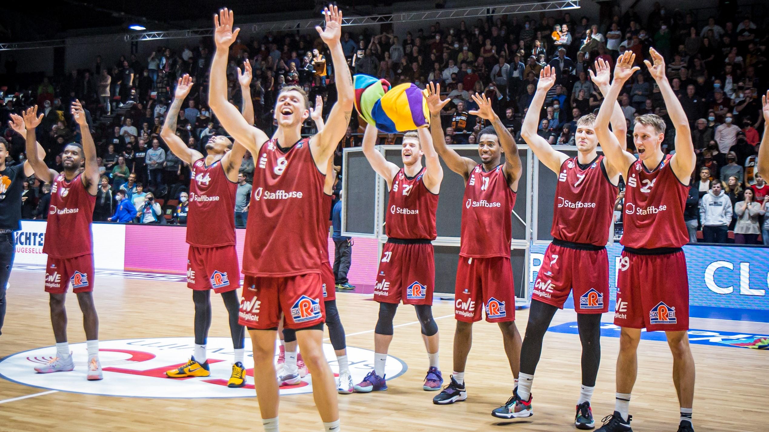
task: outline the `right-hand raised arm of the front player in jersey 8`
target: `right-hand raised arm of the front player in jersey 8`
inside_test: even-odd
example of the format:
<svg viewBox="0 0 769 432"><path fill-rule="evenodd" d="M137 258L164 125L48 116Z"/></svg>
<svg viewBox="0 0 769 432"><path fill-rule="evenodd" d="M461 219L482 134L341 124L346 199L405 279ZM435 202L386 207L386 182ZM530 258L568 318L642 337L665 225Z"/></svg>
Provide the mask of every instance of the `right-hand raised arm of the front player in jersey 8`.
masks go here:
<svg viewBox="0 0 769 432"><path fill-rule="evenodd" d="M336 6L329 5L323 10L325 16L325 28L315 27L321 39L328 45L331 51L331 64L334 65L334 80L337 90L337 101L331 112L328 113L326 122L328 127L315 134L310 140L315 164L325 168L326 161L336 150L337 145L347 132L352 114L352 103L355 99L355 91L352 87L352 75L347 66L345 51L341 48L341 11Z"/></svg>

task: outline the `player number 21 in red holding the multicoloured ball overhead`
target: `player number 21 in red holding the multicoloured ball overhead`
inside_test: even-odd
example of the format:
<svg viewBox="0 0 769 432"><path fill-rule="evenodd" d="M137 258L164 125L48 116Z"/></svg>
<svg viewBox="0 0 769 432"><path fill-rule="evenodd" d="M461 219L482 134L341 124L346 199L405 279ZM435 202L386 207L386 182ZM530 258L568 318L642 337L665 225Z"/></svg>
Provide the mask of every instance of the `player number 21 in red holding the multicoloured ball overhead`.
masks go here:
<svg viewBox="0 0 769 432"><path fill-rule="evenodd" d="M377 128L368 124L363 134L363 153L371 168L387 182L390 208L384 216L384 228L388 240L382 248L374 289L374 300L379 303L379 318L374 331L374 370L355 384L355 391L387 390L384 366L392 341L392 319L400 302L414 305L428 351L430 363L422 388L425 391L440 390L443 377L438 368L438 325L432 315L435 288L432 240L437 236L435 212L443 168L426 128L404 134L403 168L388 162L375 149L377 134Z"/></svg>

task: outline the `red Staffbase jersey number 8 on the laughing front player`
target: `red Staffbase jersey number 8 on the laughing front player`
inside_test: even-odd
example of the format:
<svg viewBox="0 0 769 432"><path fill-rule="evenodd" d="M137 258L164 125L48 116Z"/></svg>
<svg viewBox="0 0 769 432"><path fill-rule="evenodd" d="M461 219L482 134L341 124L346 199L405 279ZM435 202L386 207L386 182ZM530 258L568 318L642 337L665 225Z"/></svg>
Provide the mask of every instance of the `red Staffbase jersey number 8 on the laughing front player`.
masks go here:
<svg viewBox="0 0 769 432"><path fill-rule="evenodd" d="M288 149L268 140L259 153L243 273L268 277L320 273L318 226L328 219L322 204L328 196L323 193L325 176L312 159L309 139Z"/></svg>

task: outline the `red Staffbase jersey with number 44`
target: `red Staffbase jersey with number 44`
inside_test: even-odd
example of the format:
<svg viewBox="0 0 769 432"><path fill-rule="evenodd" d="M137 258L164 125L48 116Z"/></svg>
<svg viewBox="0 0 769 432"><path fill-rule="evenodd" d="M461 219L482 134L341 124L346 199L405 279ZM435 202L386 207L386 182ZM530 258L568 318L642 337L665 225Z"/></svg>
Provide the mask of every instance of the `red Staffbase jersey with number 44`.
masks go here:
<svg viewBox="0 0 769 432"><path fill-rule="evenodd" d="M238 183L227 178L221 159L205 166L195 160L190 170L187 242L211 248L235 244L235 191Z"/></svg>

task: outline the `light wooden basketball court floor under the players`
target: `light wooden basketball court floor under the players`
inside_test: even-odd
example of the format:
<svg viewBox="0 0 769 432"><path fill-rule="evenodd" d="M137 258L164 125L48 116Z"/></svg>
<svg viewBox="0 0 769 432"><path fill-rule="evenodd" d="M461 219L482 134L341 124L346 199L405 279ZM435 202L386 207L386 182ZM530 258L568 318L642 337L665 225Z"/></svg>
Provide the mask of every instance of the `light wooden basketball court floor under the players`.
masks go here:
<svg viewBox="0 0 769 432"><path fill-rule="evenodd" d="M0 358L33 348L52 346L48 295L44 273L14 271L8 290L8 313L0 336ZM193 307L182 282L157 282L98 277L95 301L100 339L190 337ZM371 295L339 293L338 306L350 347L374 348L373 329L378 305ZM229 337L224 305L211 296L211 337ZM85 341L82 314L75 295L68 295L70 344ZM451 374L454 335L452 301L436 301L434 316L441 332L441 371ZM517 312L524 333L528 310ZM342 430L575 430L574 404L580 388L581 346L577 335L548 331L534 380L534 416L500 422L491 410L511 395L512 375L496 325L474 326L474 345L465 380L468 401L448 406L432 404L435 392L421 389L428 358L415 322L414 308L398 309L390 355L408 364L388 391L339 396ZM572 310L555 315L553 325L576 321ZM611 314L603 322L611 323ZM769 324L692 318L691 328L745 331L756 335ZM614 362L618 338L601 340L601 370L593 396L596 422L614 409ZM250 341L246 341L247 355ZM697 363L694 425L697 431L762 432L769 424L769 353L728 346L691 345ZM52 355L55 348L49 348ZM183 362L191 351L178 351ZM331 358L329 359L331 360ZM373 353L371 353L373 365ZM641 341L638 381L631 401L632 427L638 431L676 430L678 404L671 381L672 358L664 341ZM30 365L30 369L32 365ZM75 370L77 371L77 369ZM82 368L81 368L82 371ZM73 372L74 373L74 372ZM55 377L51 377L55 378ZM228 378L223 377L223 378ZM110 374L105 373L106 382ZM161 379L161 378L158 378ZM198 378L194 378L198 379ZM85 381L85 378L83 378ZM251 378L249 378L251 380ZM26 397L25 397L26 396ZM281 430L322 430L311 394L281 397ZM51 391L0 379L0 430L261 430L256 397L158 399L114 397Z"/></svg>

